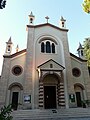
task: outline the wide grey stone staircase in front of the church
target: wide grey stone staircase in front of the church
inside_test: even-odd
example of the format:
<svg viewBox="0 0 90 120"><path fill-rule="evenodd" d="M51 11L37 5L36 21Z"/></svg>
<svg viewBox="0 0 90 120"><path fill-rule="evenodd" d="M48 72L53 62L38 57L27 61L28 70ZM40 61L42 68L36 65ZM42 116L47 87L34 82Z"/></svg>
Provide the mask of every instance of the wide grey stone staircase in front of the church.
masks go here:
<svg viewBox="0 0 90 120"><path fill-rule="evenodd" d="M12 116L13 120L66 120L66 118L90 118L90 108L17 110L12 112Z"/></svg>

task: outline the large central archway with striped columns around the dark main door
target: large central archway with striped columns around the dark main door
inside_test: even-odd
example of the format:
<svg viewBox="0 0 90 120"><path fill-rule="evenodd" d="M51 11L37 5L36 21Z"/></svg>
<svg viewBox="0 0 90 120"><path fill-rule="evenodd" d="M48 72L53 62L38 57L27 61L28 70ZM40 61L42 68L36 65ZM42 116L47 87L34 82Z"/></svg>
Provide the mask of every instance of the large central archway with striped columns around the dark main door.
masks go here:
<svg viewBox="0 0 90 120"><path fill-rule="evenodd" d="M39 83L39 107L65 107L64 83L57 74L46 74Z"/></svg>

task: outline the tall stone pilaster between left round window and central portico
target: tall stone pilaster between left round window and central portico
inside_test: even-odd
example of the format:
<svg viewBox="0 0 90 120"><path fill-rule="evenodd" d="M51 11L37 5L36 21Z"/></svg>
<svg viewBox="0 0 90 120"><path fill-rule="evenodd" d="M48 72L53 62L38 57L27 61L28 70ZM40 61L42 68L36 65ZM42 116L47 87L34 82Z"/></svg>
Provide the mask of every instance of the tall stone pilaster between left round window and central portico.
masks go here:
<svg viewBox="0 0 90 120"><path fill-rule="evenodd" d="M24 96L31 96L30 108L34 102L33 97L33 47L34 47L34 27L27 27L27 51L26 51L26 65L25 65L25 81L24 81Z"/></svg>

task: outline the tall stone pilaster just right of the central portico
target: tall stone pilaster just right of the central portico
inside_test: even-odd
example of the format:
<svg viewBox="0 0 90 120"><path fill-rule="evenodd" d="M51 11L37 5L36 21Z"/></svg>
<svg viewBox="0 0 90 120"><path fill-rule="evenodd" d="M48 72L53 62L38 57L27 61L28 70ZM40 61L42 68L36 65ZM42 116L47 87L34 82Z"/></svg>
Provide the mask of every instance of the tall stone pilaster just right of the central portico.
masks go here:
<svg viewBox="0 0 90 120"><path fill-rule="evenodd" d="M64 71L64 83L65 83L65 101L66 108L74 107L75 103L70 103L69 95L74 94L74 84L72 79L72 66L71 66L71 58L69 53L69 45L68 45L68 37L67 33L62 33L62 41L64 47L64 58L65 58L65 71Z"/></svg>

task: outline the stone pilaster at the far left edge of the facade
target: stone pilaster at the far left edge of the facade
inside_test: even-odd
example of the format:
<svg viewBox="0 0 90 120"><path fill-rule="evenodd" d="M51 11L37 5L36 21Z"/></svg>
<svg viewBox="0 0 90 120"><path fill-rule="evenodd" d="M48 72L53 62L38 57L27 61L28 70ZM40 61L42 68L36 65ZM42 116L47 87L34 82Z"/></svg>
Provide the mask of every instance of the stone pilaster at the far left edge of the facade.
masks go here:
<svg viewBox="0 0 90 120"><path fill-rule="evenodd" d="M10 58L5 57L3 60L1 81L0 81L0 107L6 105L8 80L10 74Z"/></svg>

